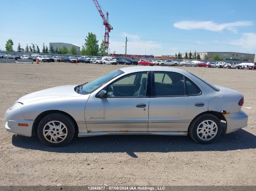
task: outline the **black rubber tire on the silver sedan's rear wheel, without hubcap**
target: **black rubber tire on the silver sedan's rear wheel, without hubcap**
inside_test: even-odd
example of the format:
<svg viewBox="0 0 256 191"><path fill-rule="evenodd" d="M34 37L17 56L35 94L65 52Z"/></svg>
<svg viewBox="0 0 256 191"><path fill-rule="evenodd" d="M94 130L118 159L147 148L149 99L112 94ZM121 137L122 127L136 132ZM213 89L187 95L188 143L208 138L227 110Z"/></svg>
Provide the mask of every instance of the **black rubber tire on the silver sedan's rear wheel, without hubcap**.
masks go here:
<svg viewBox="0 0 256 191"><path fill-rule="evenodd" d="M197 134L198 126L204 120L211 120L214 123L216 123L216 125L217 125L217 133L210 140L202 140L201 138L199 138L199 136ZM206 128L208 128L208 127L206 127ZM188 127L188 134L197 143L200 143L200 144L210 144L210 143L216 141L220 137L221 130L222 130L221 121L215 115L213 115L211 113L203 113L203 114L198 115L196 118L194 118L192 120L192 122L190 123L190 125ZM206 133L207 133L207 130L206 130Z"/></svg>

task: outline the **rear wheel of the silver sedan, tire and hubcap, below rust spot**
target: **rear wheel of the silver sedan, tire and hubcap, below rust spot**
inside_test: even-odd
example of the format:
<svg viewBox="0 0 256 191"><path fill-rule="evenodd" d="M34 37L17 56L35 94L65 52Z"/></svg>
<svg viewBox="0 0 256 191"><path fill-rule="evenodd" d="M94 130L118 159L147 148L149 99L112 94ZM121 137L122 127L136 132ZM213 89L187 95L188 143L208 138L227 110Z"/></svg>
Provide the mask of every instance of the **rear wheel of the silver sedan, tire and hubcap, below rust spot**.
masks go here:
<svg viewBox="0 0 256 191"><path fill-rule="evenodd" d="M192 120L188 134L197 143L210 144L221 135L221 122L211 113L203 113Z"/></svg>

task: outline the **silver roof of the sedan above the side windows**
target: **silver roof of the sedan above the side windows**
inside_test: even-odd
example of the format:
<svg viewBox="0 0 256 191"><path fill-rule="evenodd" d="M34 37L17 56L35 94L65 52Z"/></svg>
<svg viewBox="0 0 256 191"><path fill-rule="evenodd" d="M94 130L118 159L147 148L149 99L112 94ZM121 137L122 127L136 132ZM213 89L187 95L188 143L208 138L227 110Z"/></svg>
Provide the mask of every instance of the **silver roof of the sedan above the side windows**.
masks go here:
<svg viewBox="0 0 256 191"><path fill-rule="evenodd" d="M140 72L140 71L166 71L166 72L185 72L185 70L179 68L162 67L162 66L132 66L126 68L120 68L123 72Z"/></svg>

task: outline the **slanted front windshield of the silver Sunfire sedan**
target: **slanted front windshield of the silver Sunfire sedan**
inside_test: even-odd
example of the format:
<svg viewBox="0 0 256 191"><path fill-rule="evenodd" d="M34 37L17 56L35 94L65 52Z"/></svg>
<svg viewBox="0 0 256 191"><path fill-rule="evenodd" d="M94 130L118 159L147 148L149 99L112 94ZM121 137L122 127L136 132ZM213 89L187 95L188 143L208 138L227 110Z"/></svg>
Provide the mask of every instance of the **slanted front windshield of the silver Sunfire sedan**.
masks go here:
<svg viewBox="0 0 256 191"><path fill-rule="evenodd" d="M99 88L101 85L105 84L109 80L111 80L111 79L115 78L116 76L123 74L123 73L124 73L123 71L118 69L118 70L110 72L104 76L101 76L94 81L84 84L82 86L82 89L80 90L80 93L81 94L90 94L91 92L93 92L94 90Z"/></svg>

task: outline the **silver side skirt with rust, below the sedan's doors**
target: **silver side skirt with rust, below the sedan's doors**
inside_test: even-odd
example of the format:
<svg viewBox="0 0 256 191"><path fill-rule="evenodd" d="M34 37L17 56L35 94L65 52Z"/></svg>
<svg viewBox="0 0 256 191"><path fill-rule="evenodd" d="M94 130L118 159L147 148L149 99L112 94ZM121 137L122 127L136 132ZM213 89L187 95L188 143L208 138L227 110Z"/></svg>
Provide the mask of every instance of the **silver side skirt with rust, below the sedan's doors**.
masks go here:
<svg viewBox="0 0 256 191"><path fill-rule="evenodd" d="M188 135L188 132L161 132L161 131L124 131L124 132L89 132L89 133L78 133L78 137L90 137L99 135Z"/></svg>

